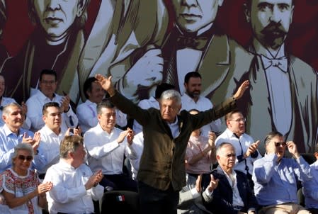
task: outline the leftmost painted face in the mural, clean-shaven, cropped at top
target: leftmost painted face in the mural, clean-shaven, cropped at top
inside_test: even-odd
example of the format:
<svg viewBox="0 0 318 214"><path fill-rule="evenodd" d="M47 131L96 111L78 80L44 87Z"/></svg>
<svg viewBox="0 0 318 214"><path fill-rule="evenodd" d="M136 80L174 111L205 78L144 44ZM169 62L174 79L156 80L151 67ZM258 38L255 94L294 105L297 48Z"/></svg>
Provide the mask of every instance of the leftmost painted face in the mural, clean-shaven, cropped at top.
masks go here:
<svg viewBox="0 0 318 214"><path fill-rule="evenodd" d="M34 0L35 13L52 40L67 33L75 19L83 13L82 4L83 0Z"/></svg>

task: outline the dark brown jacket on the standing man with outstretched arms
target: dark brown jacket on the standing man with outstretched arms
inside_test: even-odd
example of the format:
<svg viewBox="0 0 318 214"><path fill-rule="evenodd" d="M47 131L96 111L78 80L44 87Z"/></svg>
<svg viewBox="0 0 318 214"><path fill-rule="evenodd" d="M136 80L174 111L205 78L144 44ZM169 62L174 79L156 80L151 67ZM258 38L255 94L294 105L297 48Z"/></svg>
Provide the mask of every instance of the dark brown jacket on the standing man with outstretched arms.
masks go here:
<svg viewBox="0 0 318 214"><path fill-rule="evenodd" d="M181 111L178 115L180 133L174 138L158 109L142 109L119 93L112 96L110 101L143 127L144 150L140 159L138 181L160 190L166 190L172 184L175 191L180 191L186 186L184 159L192 131L236 108L234 98L229 98L197 115Z"/></svg>

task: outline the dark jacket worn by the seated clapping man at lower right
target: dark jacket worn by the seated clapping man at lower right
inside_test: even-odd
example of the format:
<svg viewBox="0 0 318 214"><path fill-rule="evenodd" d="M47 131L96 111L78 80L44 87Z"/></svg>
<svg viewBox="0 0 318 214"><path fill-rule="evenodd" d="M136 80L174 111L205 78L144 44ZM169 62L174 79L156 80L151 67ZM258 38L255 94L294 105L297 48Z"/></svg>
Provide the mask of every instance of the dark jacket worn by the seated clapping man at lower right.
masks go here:
<svg viewBox="0 0 318 214"><path fill-rule="evenodd" d="M251 191L246 174L237 170L235 170L235 172L237 173L237 188L239 189L239 196L241 196L244 203L244 210L241 211L247 213L250 208L255 208L255 210L257 210L257 201L253 191ZM210 210L212 213L237 213L237 210L234 210L232 206L232 186L230 186L224 171L220 167L217 167L217 169L212 171L212 174L215 179L219 179L219 185L213 191L210 201L205 201L203 198L205 208ZM205 184L205 186L208 185Z"/></svg>

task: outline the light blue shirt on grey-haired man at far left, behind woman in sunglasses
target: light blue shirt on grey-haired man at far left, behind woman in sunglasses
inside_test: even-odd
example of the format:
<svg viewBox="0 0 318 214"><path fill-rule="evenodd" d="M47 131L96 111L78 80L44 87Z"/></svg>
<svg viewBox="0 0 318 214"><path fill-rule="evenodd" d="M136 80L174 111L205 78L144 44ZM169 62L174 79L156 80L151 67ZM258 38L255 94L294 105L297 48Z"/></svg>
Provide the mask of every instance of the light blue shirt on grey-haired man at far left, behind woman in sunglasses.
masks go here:
<svg viewBox="0 0 318 214"><path fill-rule="evenodd" d="M14 147L22 142L23 134L27 133L28 136L33 137L33 133L29 130L21 128L18 135L12 133L8 126L5 124L0 127L0 172L12 166L12 155ZM32 162L32 169L42 169L46 164L45 157L41 152L35 155Z"/></svg>

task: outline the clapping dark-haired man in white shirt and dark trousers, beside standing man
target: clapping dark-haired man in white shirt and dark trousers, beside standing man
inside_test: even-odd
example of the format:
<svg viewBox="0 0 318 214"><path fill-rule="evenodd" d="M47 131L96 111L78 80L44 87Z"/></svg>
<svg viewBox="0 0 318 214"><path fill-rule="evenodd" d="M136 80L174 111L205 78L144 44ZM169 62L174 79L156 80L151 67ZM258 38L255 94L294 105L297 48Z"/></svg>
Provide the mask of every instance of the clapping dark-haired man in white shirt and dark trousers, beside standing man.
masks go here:
<svg viewBox="0 0 318 214"><path fill-rule="evenodd" d="M133 131L130 128L124 131L115 128L115 106L108 100L97 104L97 117L98 124L84 134L89 167L92 171L102 170L102 186L137 192L137 182L123 174L124 155L137 159L132 148Z"/></svg>

